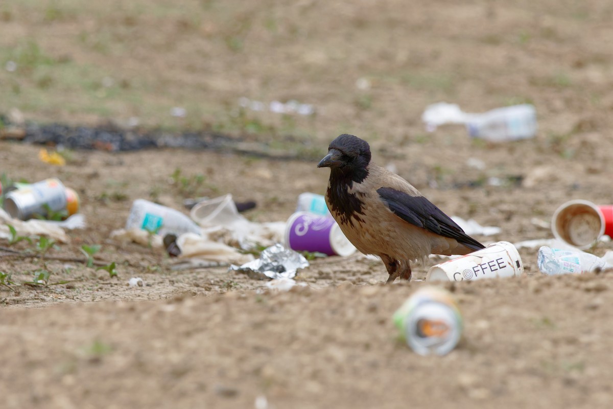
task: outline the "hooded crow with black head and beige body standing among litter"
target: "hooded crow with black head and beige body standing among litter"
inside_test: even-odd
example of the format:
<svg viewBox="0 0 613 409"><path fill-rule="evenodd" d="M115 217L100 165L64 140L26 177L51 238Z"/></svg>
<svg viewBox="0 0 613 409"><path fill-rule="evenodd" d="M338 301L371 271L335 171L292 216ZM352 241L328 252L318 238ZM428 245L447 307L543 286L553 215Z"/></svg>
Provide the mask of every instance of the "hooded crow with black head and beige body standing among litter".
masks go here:
<svg viewBox="0 0 613 409"><path fill-rule="evenodd" d="M379 256L389 278L411 280L411 261L430 254L468 254L484 248L402 177L370 161L356 136L333 140L317 167L330 168L326 204L349 241Z"/></svg>

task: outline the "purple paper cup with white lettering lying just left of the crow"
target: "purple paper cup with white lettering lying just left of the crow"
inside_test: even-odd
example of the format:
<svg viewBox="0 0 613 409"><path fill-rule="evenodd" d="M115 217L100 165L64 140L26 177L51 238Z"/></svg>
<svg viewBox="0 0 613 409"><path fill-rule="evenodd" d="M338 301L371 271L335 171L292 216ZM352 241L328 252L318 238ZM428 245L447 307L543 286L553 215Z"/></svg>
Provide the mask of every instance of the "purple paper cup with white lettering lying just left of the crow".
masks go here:
<svg viewBox="0 0 613 409"><path fill-rule="evenodd" d="M297 212L287 220L287 247L296 251L324 253L329 256L350 256L356 248L330 216Z"/></svg>

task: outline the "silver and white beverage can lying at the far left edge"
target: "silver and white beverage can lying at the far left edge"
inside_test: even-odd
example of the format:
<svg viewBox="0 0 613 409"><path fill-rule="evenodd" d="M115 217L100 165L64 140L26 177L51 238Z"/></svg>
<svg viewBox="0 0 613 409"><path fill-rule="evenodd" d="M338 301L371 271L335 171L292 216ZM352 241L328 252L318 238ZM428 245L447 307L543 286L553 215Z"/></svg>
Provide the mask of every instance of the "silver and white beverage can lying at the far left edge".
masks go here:
<svg viewBox="0 0 613 409"><path fill-rule="evenodd" d="M78 203L78 196L76 197ZM11 217L20 220L28 220L34 215L45 216L47 210L52 212L65 210L66 204L66 188L57 178L20 184L17 189L10 191L4 197L4 210Z"/></svg>

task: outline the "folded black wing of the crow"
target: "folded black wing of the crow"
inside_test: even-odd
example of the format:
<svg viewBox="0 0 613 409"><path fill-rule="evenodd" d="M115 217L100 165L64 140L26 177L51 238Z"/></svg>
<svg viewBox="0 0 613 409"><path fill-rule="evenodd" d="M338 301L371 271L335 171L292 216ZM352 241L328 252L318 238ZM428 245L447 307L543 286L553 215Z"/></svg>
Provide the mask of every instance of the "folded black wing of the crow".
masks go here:
<svg viewBox="0 0 613 409"><path fill-rule="evenodd" d="M427 231L457 240L468 248L479 250L485 246L474 240L455 221L424 196L411 196L392 188L379 188L377 193L399 218Z"/></svg>

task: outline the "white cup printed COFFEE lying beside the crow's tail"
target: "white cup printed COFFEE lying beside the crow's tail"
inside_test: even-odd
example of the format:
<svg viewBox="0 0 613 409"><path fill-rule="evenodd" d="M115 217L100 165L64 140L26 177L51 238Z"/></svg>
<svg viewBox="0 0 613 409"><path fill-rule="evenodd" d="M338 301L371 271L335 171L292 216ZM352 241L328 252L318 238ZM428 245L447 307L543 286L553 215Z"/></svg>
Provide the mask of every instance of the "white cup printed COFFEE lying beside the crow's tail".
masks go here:
<svg viewBox="0 0 613 409"><path fill-rule="evenodd" d="M509 242L497 242L430 267L426 281L463 281L482 278L512 277L524 273L517 248Z"/></svg>

